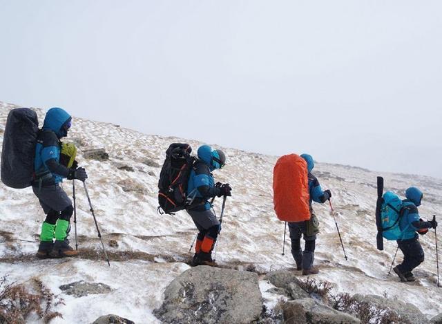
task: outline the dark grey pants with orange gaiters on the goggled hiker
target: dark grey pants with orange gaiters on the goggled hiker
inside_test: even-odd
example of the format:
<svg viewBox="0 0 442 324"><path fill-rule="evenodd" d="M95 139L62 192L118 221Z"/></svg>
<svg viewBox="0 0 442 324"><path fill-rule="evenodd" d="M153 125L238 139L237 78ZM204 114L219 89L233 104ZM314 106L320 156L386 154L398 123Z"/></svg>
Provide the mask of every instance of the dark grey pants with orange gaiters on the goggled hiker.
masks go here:
<svg viewBox="0 0 442 324"><path fill-rule="evenodd" d="M195 243L195 253L210 253L220 233L220 221L209 209L206 211L187 210L199 233Z"/></svg>

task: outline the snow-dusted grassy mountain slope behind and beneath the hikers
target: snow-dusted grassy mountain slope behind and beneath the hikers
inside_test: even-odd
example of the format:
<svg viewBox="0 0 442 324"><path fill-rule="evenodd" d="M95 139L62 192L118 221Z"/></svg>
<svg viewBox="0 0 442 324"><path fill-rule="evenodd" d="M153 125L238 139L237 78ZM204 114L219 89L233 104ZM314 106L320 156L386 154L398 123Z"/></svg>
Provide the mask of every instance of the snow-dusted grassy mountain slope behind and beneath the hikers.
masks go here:
<svg viewBox="0 0 442 324"><path fill-rule="evenodd" d="M0 103L0 141L11 108L15 106ZM37 113L43 122L44 111L37 109ZM202 143L144 135L115 124L76 117L67 141L77 144L77 160L88 171L86 183L111 267L102 258L97 231L79 182L77 228L79 249L83 253L79 258L60 260L34 257L44 213L32 190L15 190L0 184L0 275L8 274L18 283L39 278L52 292L61 294L64 305L58 305L56 310L63 314L63 319L56 318L52 323L88 323L110 313L137 323L155 323L152 311L160 306L164 287L189 268L186 262L193 255L189 247L196 231L185 212L174 217L157 213L160 167L147 164L161 165L164 151L171 142L189 142L195 149ZM99 162L82 157L81 151L94 148L106 149L110 160ZM237 269L251 264L260 272L293 268L288 239L287 253L281 255L284 223L278 221L273 212L271 181L276 157L223 150L228 164L225 169L215 171L215 180L229 182L233 197L226 205L216 248L217 262ZM147 159L151 161L146 164ZM117 169L124 165L133 167L134 171ZM338 224L349 257L348 261L343 258L329 206L315 204L321 222L316 249L316 264L321 271L317 277L335 283L339 292L399 298L421 307L429 318L441 313L442 294L441 289L436 288L434 231L421 238L425 262L416 270L419 283L398 283L396 276L387 275L396 251L395 242L385 242L385 251L376 250L374 206L378 173L325 163L316 164L314 173L323 188L332 190L332 202L339 213ZM385 178L385 187L398 193L402 194L411 185L423 189L425 198L420 211L425 218L441 214L442 180L405 174L381 175ZM137 191L124 191L126 187L135 187ZM72 182L66 181L64 189L72 195ZM220 210L220 200L215 202L215 209ZM74 241L73 231L70 239ZM118 246L108 245L111 240L117 241ZM401 258L399 252L398 260ZM106 283L114 290L110 294L81 298L62 294L60 285L77 280Z"/></svg>

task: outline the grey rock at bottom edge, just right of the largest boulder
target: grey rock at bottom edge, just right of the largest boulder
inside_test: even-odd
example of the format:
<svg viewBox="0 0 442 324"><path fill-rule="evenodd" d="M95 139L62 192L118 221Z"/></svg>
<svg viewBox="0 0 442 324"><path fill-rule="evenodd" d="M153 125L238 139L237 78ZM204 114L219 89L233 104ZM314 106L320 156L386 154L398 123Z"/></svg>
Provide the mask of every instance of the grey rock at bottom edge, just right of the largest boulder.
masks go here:
<svg viewBox="0 0 442 324"><path fill-rule="evenodd" d="M313 298L302 298L296 301L287 301L282 305L284 323L327 323L350 324L361 323L358 318L338 312L332 307L318 303Z"/></svg>

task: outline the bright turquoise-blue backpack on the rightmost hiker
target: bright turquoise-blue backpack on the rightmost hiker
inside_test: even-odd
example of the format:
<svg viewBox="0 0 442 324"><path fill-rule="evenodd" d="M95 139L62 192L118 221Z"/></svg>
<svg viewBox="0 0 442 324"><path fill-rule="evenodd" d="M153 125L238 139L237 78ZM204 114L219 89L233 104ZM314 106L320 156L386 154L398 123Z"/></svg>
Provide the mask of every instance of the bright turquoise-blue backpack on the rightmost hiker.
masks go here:
<svg viewBox="0 0 442 324"><path fill-rule="evenodd" d="M387 191L382 196L381 224L382 236L387 240L401 240L403 231L399 227L399 221L403 215L404 205L396 193Z"/></svg>

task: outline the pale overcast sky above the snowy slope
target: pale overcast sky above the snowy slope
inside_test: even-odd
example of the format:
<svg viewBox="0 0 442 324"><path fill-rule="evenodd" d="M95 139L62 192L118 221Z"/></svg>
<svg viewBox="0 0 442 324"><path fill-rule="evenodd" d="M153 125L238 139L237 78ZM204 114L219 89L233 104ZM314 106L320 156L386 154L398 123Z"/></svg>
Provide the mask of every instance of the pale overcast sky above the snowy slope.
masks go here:
<svg viewBox="0 0 442 324"><path fill-rule="evenodd" d="M0 101L442 178L442 1L0 0Z"/></svg>

